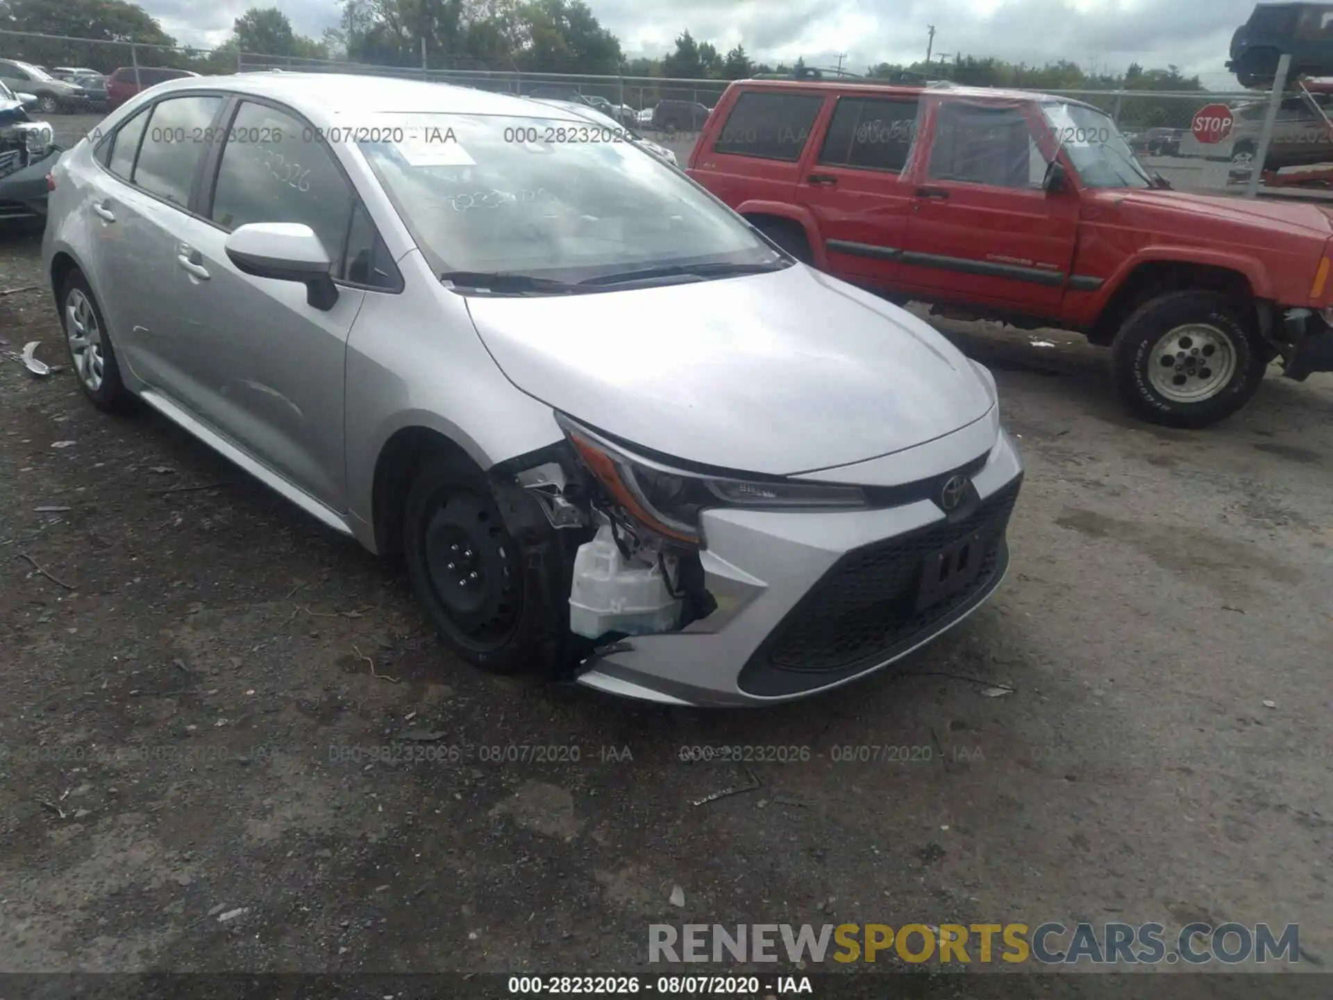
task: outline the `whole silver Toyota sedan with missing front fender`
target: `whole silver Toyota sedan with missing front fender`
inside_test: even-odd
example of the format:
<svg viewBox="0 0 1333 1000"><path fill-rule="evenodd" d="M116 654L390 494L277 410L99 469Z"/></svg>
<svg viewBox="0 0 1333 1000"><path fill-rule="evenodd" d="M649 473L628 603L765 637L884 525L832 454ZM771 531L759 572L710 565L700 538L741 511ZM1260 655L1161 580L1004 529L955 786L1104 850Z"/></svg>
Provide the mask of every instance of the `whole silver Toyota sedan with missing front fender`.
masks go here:
<svg viewBox="0 0 1333 1000"><path fill-rule="evenodd" d="M485 669L762 704L961 621L1021 481L989 372L580 127L323 73L140 95L53 176L84 393L401 553Z"/></svg>

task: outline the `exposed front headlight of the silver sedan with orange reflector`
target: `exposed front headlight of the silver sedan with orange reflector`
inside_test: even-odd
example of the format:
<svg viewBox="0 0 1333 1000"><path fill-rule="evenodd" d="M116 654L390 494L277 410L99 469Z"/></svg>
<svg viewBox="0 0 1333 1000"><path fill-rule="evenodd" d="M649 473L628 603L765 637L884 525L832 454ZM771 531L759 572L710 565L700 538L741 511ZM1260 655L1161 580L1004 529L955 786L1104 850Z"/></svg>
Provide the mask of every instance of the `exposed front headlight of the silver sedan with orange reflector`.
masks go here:
<svg viewBox="0 0 1333 1000"><path fill-rule="evenodd" d="M609 497L643 527L670 541L698 545L700 513L709 507L845 511L866 505L858 487L712 476L672 468L632 455L563 413L556 420Z"/></svg>

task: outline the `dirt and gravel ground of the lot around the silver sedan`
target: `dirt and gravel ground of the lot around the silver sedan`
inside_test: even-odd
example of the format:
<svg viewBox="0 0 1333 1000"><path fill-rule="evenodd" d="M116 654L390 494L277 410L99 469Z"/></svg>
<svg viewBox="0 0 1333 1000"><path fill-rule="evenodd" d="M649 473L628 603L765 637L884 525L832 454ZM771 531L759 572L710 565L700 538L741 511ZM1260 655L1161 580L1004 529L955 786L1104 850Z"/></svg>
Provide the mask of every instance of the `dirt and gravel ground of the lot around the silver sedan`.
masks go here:
<svg viewBox="0 0 1333 1000"><path fill-rule="evenodd" d="M648 971L649 923L714 921L1294 921L1333 961L1333 377L1169 432L1078 337L948 331L1028 463L1008 584L892 676L717 713L465 668L392 567L0 357L0 968ZM36 236L0 340L65 363ZM705 744L810 759L694 805L750 780Z"/></svg>

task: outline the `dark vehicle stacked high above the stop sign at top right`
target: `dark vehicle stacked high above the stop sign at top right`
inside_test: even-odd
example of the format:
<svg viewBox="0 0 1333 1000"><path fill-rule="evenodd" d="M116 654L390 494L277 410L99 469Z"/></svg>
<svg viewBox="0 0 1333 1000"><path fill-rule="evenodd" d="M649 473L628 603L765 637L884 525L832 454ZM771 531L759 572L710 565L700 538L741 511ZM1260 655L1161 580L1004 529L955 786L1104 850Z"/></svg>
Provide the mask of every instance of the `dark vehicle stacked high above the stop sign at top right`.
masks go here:
<svg viewBox="0 0 1333 1000"><path fill-rule="evenodd" d="M1333 4L1256 4L1232 35L1226 68L1241 87L1269 87L1282 53L1290 53L1290 77L1333 76Z"/></svg>

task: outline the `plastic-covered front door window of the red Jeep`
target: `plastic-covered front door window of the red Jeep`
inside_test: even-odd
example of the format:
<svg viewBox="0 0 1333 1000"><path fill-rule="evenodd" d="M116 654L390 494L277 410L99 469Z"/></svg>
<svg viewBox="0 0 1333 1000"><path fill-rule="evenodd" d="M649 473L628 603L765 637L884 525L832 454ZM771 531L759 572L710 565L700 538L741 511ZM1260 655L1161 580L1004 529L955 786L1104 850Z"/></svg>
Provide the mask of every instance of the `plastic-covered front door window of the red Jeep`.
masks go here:
<svg viewBox="0 0 1333 1000"><path fill-rule="evenodd" d="M944 101L928 176L997 188L1041 185L1045 164L1021 107Z"/></svg>

